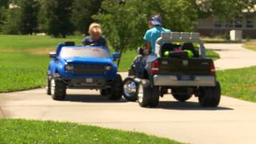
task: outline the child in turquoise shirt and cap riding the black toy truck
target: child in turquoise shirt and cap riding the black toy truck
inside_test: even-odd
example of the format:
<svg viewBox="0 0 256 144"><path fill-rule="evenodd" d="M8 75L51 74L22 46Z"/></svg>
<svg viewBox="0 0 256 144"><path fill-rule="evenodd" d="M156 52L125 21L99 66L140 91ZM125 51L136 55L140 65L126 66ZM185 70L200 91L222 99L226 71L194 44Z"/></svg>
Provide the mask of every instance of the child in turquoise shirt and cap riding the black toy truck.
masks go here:
<svg viewBox="0 0 256 144"><path fill-rule="evenodd" d="M149 20L150 30L146 31L143 39L146 42L146 50L144 54L154 54L155 42L161 37L162 32L170 32L170 30L162 27L162 18L160 14L154 14Z"/></svg>

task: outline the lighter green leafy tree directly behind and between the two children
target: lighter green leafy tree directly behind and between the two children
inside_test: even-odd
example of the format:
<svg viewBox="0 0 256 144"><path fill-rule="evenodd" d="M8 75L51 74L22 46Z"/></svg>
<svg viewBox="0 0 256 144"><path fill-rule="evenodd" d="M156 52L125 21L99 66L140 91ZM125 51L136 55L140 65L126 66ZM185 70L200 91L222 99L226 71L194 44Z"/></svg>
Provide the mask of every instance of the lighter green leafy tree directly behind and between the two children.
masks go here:
<svg viewBox="0 0 256 144"><path fill-rule="evenodd" d="M173 31L193 30L197 18L197 11L187 0L129 0L124 5L105 0L94 19L102 23L110 46L124 52L143 45L142 37L152 14L162 14L164 26Z"/></svg>

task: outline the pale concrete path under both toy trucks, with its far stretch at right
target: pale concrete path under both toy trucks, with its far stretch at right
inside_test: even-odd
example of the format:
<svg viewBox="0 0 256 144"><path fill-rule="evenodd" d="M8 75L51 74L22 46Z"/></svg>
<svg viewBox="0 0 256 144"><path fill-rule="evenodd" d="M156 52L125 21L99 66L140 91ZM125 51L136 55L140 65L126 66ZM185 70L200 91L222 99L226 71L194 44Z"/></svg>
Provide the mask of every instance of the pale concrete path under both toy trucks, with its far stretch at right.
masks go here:
<svg viewBox="0 0 256 144"><path fill-rule="evenodd" d="M242 49L241 45L207 46L221 54L222 59L216 62L219 70L256 65L256 53ZM122 75L125 77L126 73ZM110 102L93 90L69 90L68 94L63 102L52 101L43 89L0 94L0 117L3 112L6 118L136 130L180 142L255 143L256 104L252 102L223 96L218 108L206 109L198 105L197 98L182 103L166 95L158 108L152 109L126 100Z"/></svg>

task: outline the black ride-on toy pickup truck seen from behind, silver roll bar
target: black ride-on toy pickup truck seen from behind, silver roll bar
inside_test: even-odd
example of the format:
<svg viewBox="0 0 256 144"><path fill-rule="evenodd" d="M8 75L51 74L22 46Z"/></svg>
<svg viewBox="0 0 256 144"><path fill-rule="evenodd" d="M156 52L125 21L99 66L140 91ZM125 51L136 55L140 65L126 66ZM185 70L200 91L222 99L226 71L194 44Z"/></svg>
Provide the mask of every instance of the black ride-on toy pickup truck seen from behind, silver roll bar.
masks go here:
<svg viewBox="0 0 256 144"><path fill-rule="evenodd" d="M142 107L158 106L159 97L171 93L180 102L194 95L201 106L218 106L221 86L199 34L162 33L154 54L143 56L142 51L138 50L123 82L127 100L138 100Z"/></svg>

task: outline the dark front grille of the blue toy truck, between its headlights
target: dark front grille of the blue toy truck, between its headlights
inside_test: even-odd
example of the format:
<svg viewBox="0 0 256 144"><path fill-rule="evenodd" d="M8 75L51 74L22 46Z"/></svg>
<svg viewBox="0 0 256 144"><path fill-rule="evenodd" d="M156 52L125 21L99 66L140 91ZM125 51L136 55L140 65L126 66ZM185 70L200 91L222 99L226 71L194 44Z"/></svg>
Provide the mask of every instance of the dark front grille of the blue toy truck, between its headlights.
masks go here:
<svg viewBox="0 0 256 144"><path fill-rule="evenodd" d="M99 64L74 64L73 74L104 74L105 68Z"/></svg>

